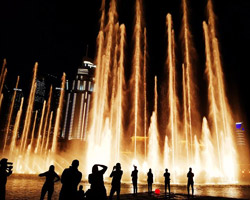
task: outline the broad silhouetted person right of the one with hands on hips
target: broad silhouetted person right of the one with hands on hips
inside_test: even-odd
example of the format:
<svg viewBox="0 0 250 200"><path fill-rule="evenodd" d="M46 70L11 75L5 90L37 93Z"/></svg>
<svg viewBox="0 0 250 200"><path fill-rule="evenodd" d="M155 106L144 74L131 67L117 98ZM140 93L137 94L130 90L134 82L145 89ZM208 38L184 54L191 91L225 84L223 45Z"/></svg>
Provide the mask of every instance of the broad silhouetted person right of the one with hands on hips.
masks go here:
<svg viewBox="0 0 250 200"><path fill-rule="evenodd" d="M59 200L76 199L77 186L82 179L82 173L78 171L79 161L73 160L69 168L65 169L61 176L62 188Z"/></svg>

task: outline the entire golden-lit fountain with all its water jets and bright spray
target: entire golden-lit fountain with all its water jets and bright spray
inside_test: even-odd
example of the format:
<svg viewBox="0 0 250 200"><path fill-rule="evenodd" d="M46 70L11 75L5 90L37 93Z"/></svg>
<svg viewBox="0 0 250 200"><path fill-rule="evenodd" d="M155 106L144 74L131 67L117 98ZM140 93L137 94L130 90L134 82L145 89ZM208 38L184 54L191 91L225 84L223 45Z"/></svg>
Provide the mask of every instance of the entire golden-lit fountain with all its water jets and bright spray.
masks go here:
<svg viewBox="0 0 250 200"><path fill-rule="evenodd" d="M53 111L50 109L51 88L48 100L44 101L40 121L37 121L38 113L33 110L38 70L36 63L26 110L24 110L24 99L22 99L17 115L12 116L11 104L7 124L12 117L15 117L15 124L10 140L7 139L9 134L7 129L3 155L15 163L14 170L18 173L38 173L47 169L52 163L59 168L58 171L62 171L71 162L72 154L77 154L81 157L81 163L84 163L85 167L82 167L84 174L88 174L95 163L112 166L119 161L124 170L131 169L132 164L138 165L139 170L143 169L141 171L152 168L157 181L161 180L162 173L158 175L156 171L164 172L164 169L168 168L173 183L183 182L186 180L185 173L191 166L200 182L237 182L237 166L233 162L237 160L232 130L233 115L225 93L212 1L208 0L207 5L208 22L203 22L205 74L209 100L209 115L204 116L203 119L197 111L198 100L191 58L194 46L188 24L186 0L182 1L183 99L181 101L177 93L179 85L177 85L176 78L178 72L175 49L178 47L175 43L172 16L167 14L165 66L167 74L162 84L167 86L168 92L161 99L164 99L164 103L168 106L168 112L158 112L159 99L157 78L155 78L154 98L151 98L154 99L154 110L151 115L147 108L147 31L143 27L142 1L136 0L135 3L134 50L129 80L126 80L124 75L126 27L124 24L119 24L116 6L116 1L111 0L106 15L105 0L102 1L95 60L97 66L95 88L86 142L87 151L83 152L80 149L73 153L71 148L65 149L65 154L58 151L65 74L62 77L56 115L53 116ZM6 73L4 64L1 85ZM18 81L19 78L16 87L18 87ZM2 96L0 103L1 101ZM158 127L160 114L168 119L165 130L159 130ZM25 120L21 132L22 115ZM148 118L150 118L149 124ZM36 127L38 127L37 133ZM229 150L226 149L227 146L230 146ZM210 173L211 170L213 173Z"/></svg>

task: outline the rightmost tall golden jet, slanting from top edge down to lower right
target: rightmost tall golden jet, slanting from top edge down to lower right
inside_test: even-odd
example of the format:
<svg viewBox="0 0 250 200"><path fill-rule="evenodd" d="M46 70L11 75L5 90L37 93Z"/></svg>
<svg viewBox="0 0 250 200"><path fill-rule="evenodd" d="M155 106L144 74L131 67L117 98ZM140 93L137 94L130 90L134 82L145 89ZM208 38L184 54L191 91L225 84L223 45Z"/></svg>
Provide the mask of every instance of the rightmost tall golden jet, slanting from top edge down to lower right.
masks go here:
<svg viewBox="0 0 250 200"><path fill-rule="evenodd" d="M222 71L222 64L220 60L220 50L219 43L216 37L216 27L215 27L215 15L213 12L212 1L209 0L207 4L208 11L208 34L209 41L211 45L211 55L212 55L212 71L214 75L214 88L215 99L217 100L217 116L218 116L218 137L220 142L220 154L221 157L221 167L223 169L223 174L227 180L235 181L236 179L236 149L233 139L233 117L230 106L225 92L224 75ZM228 150L228 146L231 148ZM230 167L229 163L232 163Z"/></svg>

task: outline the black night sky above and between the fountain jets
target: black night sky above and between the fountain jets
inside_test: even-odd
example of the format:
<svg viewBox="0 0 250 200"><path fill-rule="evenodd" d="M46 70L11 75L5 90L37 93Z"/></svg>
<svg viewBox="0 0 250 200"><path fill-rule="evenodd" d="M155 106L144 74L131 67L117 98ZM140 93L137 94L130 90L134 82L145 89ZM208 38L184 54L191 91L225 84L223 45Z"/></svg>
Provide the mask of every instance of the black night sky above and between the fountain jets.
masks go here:
<svg viewBox="0 0 250 200"><path fill-rule="evenodd" d="M133 47L131 37L135 1L117 0L117 2L119 21L126 26L126 51L129 54ZM213 2L228 98L233 112L241 109L247 119L250 119L248 104L250 102L248 95L250 1L214 0ZM61 76L62 72L66 72L68 77L72 77L86 53L87 45L89 57L94 58L100 4L101 0L0 1L0 59L7 58L9 84L11 82L14 84L17 75L21 75L21 84L28 84L35 61L39 62L39 73ZM197 79L201 93L206 88L202 31L202 21L206 19L205 5L205 0L189 0L191 32L198 55ZM181 0L143 0L143 6L149 46L148 82L152 85L152 77L160 75L164 68L167 13L173 15L177 49L179 49L177 51L181 51L179 45ZM177 67L180 69L180 66Z"/></svg>

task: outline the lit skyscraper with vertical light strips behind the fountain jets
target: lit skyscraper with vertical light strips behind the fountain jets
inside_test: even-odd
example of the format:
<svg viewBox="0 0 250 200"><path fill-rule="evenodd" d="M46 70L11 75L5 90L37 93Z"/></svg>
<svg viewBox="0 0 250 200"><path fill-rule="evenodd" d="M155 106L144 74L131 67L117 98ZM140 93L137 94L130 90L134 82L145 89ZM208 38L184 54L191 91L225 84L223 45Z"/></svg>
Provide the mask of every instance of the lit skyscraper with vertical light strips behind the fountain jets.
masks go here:
<svg viewBox="0 0 250 200"><path fill-rule="evenodd" d="M86 140L91 94L94 87L96 66L88 58L83 58L77 70L72 88L67 94L66 112L62 131L64 139Z"/></svg>

